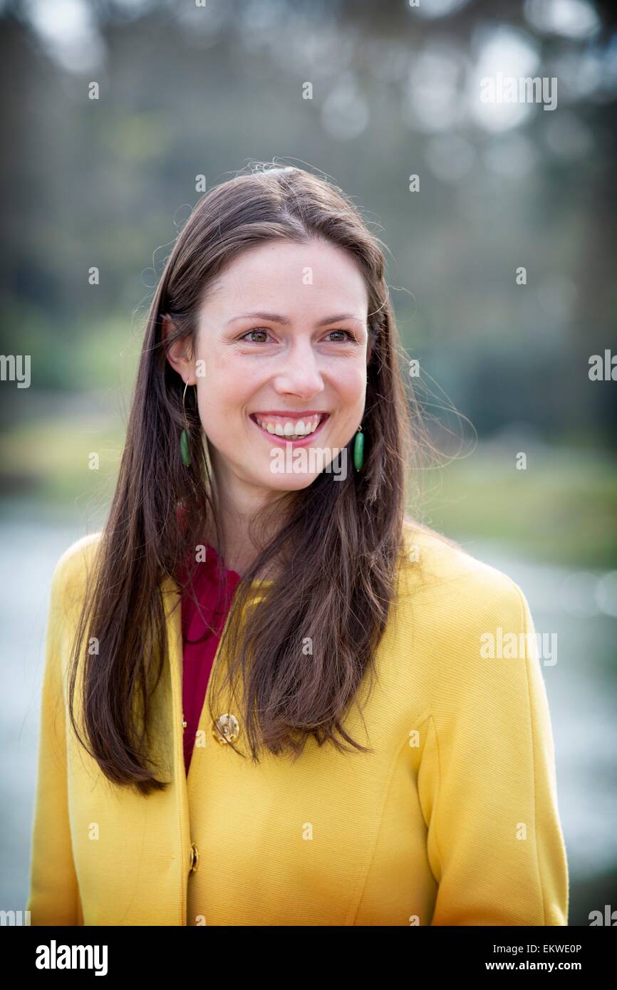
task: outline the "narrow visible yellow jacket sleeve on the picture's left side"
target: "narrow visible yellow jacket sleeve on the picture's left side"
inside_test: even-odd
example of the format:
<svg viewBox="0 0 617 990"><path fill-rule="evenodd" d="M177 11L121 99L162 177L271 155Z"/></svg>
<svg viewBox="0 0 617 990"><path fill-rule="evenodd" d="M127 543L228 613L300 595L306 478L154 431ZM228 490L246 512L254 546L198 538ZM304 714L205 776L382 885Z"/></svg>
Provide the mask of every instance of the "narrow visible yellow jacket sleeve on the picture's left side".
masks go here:
<svg viewBox="0 0 617 990"><path fill-rule="evenodd" d="M31 925L81 925L81 904L73 864L66 781L65 710L61 643L64 621L62 558L51 579L35 817L31 843Z"/></svg>

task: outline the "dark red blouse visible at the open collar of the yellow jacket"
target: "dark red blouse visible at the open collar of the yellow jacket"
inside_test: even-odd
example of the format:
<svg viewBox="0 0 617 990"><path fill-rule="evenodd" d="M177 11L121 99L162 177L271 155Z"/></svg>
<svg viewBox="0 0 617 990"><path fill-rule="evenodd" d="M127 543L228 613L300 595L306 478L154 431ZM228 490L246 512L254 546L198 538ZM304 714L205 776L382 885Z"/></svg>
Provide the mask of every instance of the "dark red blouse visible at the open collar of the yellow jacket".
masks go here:
<svg viewBox="0 0 617 990"><path fill-rule="evenodd" d="M206 559L193 577L201 615L190 591L182 599L182 712L186 722L184 768L187 775L214 656L234 593L242 580L235 570L225 569L219 574L220 566L216 550L206 545ZM183 573L185 576L186 572Z"/></svg>

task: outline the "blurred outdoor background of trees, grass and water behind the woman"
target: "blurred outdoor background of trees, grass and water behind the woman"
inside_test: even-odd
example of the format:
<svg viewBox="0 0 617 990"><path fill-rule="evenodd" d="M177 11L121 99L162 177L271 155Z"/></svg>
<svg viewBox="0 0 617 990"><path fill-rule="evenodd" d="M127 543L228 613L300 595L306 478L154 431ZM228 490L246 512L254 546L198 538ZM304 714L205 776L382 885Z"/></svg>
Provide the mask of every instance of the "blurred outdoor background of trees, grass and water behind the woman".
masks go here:
<svg viewBox="0 0 617 990"><path fill-rule="evenodd" d="M569 923L617 909L616 22L591 0L0 0L1 349L32 362L0 382L0 907L28 890L51 571L105 520L154 285L204 190L276 161L388 247L440 451L413 511L558 635ZM499 73L557 79L557 106L484 102Z"/></svg>

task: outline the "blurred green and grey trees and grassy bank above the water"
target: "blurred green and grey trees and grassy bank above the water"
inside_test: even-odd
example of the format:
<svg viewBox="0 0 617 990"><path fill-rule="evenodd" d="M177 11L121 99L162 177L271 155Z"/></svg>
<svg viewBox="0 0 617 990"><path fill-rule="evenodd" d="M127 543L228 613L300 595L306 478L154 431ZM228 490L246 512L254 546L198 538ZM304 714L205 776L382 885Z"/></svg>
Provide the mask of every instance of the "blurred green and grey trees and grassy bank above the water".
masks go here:
<svg viewBox="0 0 617 990"><path fill-rule="evenodd" d="M432 413L454 405L477 432L429 480L433 525L614 565L617 386L587 370L617 342L616 12L589 6L577 37L571 23L541 31L530 5L440 6L145 0L129 14L109 0L87 30L66 20L64 46L59 21L46 35L28 5L4 6L2 349L32 355L32 385L0 389L0 492L109 497L149 301L196 177L211 188L276 159L358 204L387 245L403 346L444 394ZM472 72L491 45L504 64L524 51L560 65L555 113L482 125ZM522 472L517 431L542 450ZM501 453L486 444L504 432Z"/></svg>

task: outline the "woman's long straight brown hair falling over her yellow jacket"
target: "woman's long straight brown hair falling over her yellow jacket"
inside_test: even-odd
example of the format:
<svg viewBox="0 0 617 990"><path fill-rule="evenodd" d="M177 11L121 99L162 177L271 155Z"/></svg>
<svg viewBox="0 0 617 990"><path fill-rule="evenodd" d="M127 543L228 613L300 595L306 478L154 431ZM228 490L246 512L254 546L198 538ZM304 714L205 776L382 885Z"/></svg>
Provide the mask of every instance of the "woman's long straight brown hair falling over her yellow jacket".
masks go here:
<svg viewBox="0 0 617 990"><path fill-rule="evenodd" d="M402 347L382 243L329 180L301 168L258 163L203 196L165 263L148 317L95 579L84 596L73 645L73 729L111 781L134 785L143 794L166 786L154 775L149 742L152 693L167 659L161 580L172 578L180 594L189 592L206 521L216 530L224 559L207 439L204 443L193 390L187 391L184 412L184 383L165 354L176 341L195 343L204 292L241 251L274 240L305 244L315 237L351 254L368 291L364 466L361 472L349 470L345 480L323 471L306 488L279 494L265 517L253 521L260 551L238 585L220 649L227 658L225 684L234 690L239 680L242 684L237 710L244 713L243 739L254 760L262 745L273 753L288 749L295 758L310 736L341 751L341 741L366 751L343 722L364 675L370 671L372 678L375 648L396 591L417 408L401 374ZM164 315L172 327L167 337ZM178 453L185 414L189 468ZM352 464L351 449L348 454ZM277 527L269 532L275 536L261 540L258 527L265 533L274 520ZM191 564L186 581L178 580L183 562ZM256 582L262 597L247 609ZM89 745L73 711L86 628L99 644L95 657L85 656L83 668ZM311 651L303 648L306 643ZM212 706L210 714L214 718Z"/></svg>

